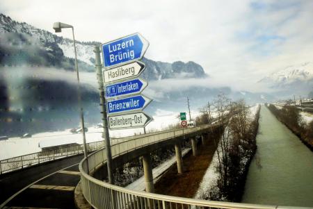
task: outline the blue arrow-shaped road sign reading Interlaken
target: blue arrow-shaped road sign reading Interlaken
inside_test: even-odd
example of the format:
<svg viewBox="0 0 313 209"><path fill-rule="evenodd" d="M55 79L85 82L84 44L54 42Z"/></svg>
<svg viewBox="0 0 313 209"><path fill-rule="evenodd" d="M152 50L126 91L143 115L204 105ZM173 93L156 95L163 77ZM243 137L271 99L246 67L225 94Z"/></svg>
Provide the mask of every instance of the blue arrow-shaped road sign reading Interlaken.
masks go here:
<svg viewBox="0 0 313 209"><path fill-rule="evenodd" d="M145 87L147 87L147 82L143 81L141 78L107 85L106 98L139 94L145 89Z"/></svg>

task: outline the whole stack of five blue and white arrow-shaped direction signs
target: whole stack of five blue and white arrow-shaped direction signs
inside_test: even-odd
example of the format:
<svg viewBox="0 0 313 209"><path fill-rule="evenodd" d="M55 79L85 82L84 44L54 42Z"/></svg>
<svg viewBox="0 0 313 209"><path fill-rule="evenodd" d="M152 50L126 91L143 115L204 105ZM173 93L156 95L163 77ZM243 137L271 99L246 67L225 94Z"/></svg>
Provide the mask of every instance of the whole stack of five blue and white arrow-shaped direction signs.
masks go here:
<svg viewBox="0 0 313 209"><path fill-rule="evenodd" d="M152 119L141 112L152 101L140 94L147 81L137 78L145 70L145 64L138 60L143 58L148 46L149 42L139 33L102 45L110 129L145 127Z"/></svg>

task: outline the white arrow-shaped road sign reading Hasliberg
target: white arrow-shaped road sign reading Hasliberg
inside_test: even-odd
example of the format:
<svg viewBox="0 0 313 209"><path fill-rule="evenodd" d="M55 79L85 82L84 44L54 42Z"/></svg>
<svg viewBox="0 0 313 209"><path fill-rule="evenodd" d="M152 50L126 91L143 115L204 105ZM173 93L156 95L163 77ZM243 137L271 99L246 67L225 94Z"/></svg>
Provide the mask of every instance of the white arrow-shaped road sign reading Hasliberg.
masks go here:
<svg viewBox="0 0 313 209"><path fill-rule="evenodd" d="M115 67L113 69L104 70L103 71L104 83L137 77L143 72L144 69L145 64L143 64L143 62L136 61L131 62L127 65Z"/></svg>

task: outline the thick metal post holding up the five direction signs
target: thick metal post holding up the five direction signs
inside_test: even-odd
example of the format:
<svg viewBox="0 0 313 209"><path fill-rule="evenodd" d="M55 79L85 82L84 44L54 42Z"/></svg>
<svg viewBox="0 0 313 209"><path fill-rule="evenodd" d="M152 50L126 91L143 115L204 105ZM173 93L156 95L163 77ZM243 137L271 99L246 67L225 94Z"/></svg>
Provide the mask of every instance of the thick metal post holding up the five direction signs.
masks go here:
<svg viewBox="0 0 313 209"><path fill-rule="evenodd" d="M100 95L100 106L102 106L102 121L103 121L103 135L106 142L106 165L108 166L108 178L109 183L114 184L113 169L112 169L112 154L111 154L111 144L110 144L110 134L109 126L106 114L106 99L104 98L104 83L102 76L102 65L100 59L100 49L95 47L95 67L97 70L97 79L99 84L99 95Z"/></svg>

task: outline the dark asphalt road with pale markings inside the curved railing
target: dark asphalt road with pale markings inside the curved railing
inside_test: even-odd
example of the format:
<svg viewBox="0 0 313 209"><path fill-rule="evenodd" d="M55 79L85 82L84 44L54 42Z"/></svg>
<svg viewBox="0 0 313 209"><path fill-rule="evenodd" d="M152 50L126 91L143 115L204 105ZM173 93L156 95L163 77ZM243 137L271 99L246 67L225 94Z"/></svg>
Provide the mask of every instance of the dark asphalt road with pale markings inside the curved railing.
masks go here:
<svg viewBox="0 0 313 209"><path fill-rule="evenodd" d="M74 156L0 176L0 203L2 204L31 183L66 168L31 185L9 201L6 206L12 208L75 208L74 187L80 180L78 163L82 158L83 155Z"/></svg>

